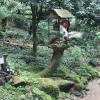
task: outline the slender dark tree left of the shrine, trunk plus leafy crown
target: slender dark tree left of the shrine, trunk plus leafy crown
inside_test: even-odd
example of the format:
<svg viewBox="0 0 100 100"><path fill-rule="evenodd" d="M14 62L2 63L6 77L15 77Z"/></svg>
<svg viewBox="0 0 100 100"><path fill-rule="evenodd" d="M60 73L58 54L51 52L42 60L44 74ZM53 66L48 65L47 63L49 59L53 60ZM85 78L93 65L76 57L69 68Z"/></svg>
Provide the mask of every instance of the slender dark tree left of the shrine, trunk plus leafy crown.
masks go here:
<svg viewBox="0 0 100 100"><path fill-rule="evenodd" d="M34 57L36 57L37 46L38 46L38 40L37 40L38 23L43 19L44 14L47 10L46 6L48 6L48 3L46 0L20 0L20 1L28 4L31 7L32 25L30 25L30 29L32 29L32 34L33 34L33 55Z"/></svg>

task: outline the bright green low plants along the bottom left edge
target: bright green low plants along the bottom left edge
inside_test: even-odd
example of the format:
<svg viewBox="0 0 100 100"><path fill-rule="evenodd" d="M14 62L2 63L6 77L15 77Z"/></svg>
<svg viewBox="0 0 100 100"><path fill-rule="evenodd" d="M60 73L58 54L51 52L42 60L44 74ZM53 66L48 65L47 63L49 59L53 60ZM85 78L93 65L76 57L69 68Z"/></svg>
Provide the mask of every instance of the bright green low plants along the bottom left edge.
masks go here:
<svg viewBox="0 0 100 100"><path fill-rule="evenodd" d="M30 94L30 87L12 87L9 84L6 84L4 87L0 87L0 99L4 100L22 100L27 98L27 100L33 100L33 98L38 98L41 100L52 100L51 96L47 95L45 92L39 90L36 87L31 87L34 91L34 96Z"/></svg>

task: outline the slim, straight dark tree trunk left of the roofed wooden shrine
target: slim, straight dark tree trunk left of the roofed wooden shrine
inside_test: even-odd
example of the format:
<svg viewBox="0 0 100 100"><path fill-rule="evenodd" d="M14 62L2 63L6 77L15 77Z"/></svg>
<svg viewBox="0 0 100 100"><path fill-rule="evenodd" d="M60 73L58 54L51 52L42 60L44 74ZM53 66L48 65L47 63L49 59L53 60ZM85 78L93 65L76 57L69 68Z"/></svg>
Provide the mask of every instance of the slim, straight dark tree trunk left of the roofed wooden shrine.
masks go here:
<svg viewBox="0 0 100 100"><path fill-rule="evenodd" d="M37 54L37 6L36 4L31 5L32 10L32 33L33 33L33 55L36 57Z"/></svg>

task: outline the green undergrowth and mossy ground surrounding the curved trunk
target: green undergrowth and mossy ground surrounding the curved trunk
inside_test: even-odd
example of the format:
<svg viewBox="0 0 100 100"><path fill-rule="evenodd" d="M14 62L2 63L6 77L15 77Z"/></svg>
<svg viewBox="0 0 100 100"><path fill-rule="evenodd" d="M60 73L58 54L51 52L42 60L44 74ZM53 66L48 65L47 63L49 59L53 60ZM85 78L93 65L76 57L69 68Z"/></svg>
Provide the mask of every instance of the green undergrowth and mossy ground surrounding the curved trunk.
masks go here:
<svg viewBox="0 0 100 100"><path fill-rule="evenodd" d="M15 40L19 39L20 36L18 34L16 36ZM25 82L25 85L17 87L10 83L1 86L0 91L3 92L0 94L0 99L64 100L68 98L73 100L74 96L85 95L88 82L99 76L99 72L94 68L95 57L99 55L99 46L94 45L98 37L94 36L94 41L91 39L86 41L86 38L88 37L80 40L84 42L83 44L74 45L65 50L60 67L49 78L41 78L37 74L48 67L52 56L52 50L47 46L38 46L35 62L31 47L24 45L20 48L18 45L6 44L0 46L0 56L5 52L8 53L11 69Z"/></svg>

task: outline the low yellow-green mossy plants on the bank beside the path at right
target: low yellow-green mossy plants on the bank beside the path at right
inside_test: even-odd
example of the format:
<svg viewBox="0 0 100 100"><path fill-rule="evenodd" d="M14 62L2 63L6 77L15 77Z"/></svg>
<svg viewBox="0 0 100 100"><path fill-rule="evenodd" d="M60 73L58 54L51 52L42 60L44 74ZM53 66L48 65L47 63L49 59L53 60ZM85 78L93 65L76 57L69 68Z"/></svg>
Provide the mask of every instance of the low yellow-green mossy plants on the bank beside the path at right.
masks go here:
<svg viewBox="0 0 100 100"><path fill-rule="evenodd" d="M64 78L72 80L78 84L86 85L89 80L92 80L98 76L98 71L95 68L85 65L78 68L76 71L68 71L67 69Z"/></svg>

